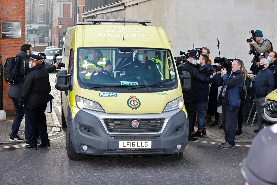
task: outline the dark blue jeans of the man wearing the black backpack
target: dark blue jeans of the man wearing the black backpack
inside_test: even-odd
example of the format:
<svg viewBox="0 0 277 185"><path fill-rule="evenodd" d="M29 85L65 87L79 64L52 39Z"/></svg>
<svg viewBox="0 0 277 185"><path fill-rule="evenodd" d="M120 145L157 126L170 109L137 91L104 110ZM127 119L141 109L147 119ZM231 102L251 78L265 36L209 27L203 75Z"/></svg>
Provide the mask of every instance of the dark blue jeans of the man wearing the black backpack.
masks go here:
<svg viewBox="0 0 277 185"><path fill-rule="evenodd" d="M23 116L24 116L25 108L23 107L23 109L20 109L18 107L19 99L12 98L12 100L14 102L14 109L15 109L16 113L15 113L15 117L14 117L14 123L12 124L11 136L15 137L18 134L20 123L21 123L21 121L23 119ZM27 124L26 124L26 119L25 119L25 131L24 131L24 133L25 133L26 140L28 140L29 129L28 129Z"/></svg>

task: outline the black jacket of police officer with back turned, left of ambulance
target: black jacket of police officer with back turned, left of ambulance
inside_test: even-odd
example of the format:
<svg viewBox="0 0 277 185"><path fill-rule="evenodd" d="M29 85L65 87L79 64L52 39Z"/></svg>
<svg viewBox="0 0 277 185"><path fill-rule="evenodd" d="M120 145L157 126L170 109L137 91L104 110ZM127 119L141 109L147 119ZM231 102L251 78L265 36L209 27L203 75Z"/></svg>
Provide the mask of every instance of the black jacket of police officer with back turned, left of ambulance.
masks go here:
<svg viewBox="0 0 277 185"><path fill-rule="evenodd" d="M25 108L29 109L43 106L54 99L49 94L50 91L49 75L42 69L42 64L37 64L29 70L25 77L18 104L23 104Z"/></svg>

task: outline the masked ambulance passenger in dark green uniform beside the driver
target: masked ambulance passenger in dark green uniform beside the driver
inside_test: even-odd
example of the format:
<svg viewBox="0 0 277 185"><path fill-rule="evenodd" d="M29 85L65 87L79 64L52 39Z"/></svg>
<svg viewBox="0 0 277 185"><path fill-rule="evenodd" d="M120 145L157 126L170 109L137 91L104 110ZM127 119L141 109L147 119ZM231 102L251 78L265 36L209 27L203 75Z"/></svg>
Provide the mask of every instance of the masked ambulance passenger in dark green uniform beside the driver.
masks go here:
<svg viewBox="0 0 277 185"><path fill-rule="evenodd" d="M156 62L148 60L147 50L138 50L137 57L129 65L126 74L153 79L161 79L162 77Z"/></svg>

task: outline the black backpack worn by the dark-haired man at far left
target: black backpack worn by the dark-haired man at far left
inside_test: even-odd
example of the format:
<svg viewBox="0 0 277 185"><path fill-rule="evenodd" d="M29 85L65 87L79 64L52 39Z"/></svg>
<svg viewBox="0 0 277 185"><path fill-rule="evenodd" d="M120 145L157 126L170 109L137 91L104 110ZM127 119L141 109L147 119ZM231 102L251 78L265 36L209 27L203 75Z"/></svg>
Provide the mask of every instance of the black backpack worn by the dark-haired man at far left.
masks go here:
<svg viewBox="0 0 277 185"><path fill-rule="evenodd" d="M20 58L9 57L4 65L4 78L6 82L15 84L20 80Z"/></svg>

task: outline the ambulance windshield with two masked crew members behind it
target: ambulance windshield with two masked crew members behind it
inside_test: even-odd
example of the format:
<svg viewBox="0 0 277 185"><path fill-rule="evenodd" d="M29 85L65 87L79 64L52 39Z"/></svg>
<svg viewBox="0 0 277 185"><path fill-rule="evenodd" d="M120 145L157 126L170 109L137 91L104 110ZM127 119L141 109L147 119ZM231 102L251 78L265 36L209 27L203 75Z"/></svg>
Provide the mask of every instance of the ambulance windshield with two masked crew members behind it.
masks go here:
<svg viewBox="0 0 277 185"><path fill-rule="evenodd" d="M82 88L154 90L177 88L169 50L79 48L78 83Z"/></svg>

